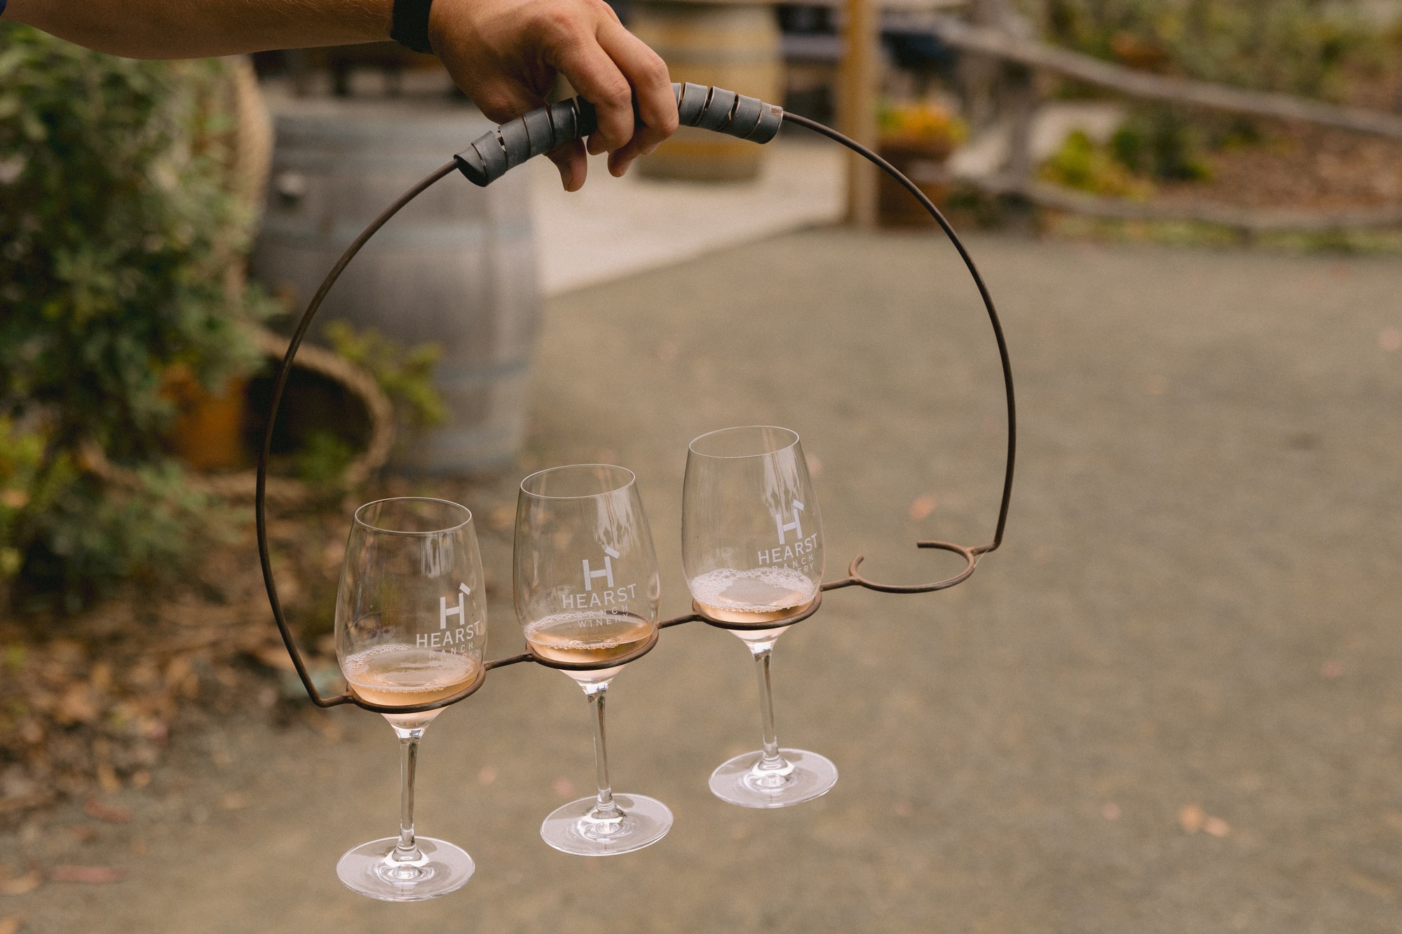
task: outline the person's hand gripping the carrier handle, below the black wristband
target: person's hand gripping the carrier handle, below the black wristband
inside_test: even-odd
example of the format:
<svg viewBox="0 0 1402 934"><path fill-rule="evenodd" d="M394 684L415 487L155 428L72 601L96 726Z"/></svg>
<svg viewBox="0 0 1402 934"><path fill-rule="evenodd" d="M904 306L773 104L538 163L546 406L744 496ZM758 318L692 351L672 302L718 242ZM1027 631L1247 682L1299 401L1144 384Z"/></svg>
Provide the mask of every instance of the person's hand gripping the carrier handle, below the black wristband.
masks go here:
<svg viewBox="0 0 1402 934"><path fill-rule="evenodd" d="M564 74L597 109L587 151L607 151L615 177L677 129L667 65L603 0L435 0L429 41L457 86L498 123L541 107L557 72ZM548 153L565 191L585 184L585 151L575 140Z"/></svg>

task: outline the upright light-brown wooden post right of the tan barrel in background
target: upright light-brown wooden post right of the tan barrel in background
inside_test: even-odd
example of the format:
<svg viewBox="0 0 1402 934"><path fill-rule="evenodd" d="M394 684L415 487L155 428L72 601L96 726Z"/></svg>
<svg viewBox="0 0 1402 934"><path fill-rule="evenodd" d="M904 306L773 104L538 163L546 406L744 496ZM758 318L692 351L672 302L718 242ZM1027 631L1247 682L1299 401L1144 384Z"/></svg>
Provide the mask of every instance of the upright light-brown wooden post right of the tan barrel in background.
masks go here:
<svg viewBox="0 0 1402 934"><path fill-rule="evenodd" d="M876 91L880 81L876 49L876 0L844 0L845 49L841 65L841 121L844 133L876 149ZM876 226L876 167L857 153L847 154L847 223Z"/></svg>

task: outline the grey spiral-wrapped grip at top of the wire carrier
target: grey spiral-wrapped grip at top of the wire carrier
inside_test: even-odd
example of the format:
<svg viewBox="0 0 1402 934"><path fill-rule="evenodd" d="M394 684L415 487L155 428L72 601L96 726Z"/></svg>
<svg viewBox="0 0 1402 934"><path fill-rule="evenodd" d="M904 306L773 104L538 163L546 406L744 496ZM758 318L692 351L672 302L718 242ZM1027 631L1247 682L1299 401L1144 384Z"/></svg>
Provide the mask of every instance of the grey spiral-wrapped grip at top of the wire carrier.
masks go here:
<svg viewBox="0 0 1402 934"><path fill-rule="evenodd" d="M677 95L677 115L683 126L767 143L784 122L782 107L765 104L757 97L690 83L673 84L672 91ZM582 97L572 97L482 133L453 158L470 182L486 187L527 158L589 136L596 129L599 116L594 105Z"/></svg>

